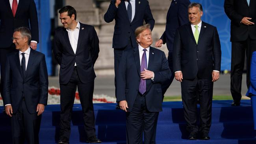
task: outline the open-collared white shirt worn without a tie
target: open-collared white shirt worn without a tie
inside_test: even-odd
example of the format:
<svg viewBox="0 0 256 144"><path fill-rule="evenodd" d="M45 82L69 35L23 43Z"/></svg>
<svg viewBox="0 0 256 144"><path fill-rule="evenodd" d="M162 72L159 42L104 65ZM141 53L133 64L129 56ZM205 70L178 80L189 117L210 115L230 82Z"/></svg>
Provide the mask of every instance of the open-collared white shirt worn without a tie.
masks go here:
<svg viewBox="0 0 256 144"><path fill-rule="evenodd" d="M80 30L80 23L78 22L78 20L76 20L76 22L77 22L77 25L74 30L69 28L66 29L69 34L69 42L72 46L74 54L76 54L76 48L77 48L77 42L78 42L78 36L79 36L79 30ZM76 66L76 63L74 66Z"/></svg>

